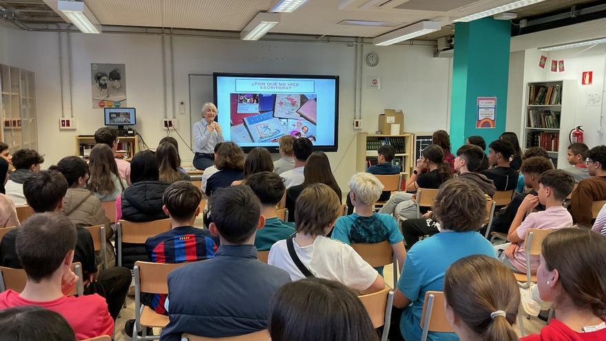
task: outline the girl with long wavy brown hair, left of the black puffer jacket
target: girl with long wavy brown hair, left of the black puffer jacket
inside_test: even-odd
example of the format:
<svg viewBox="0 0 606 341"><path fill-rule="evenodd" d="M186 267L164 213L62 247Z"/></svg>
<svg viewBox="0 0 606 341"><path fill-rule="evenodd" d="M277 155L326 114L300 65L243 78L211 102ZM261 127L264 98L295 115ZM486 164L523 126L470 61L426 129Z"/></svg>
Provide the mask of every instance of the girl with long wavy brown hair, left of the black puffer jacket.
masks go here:
<svg viewBox="0 0 606 341"><path fill-rule="evenodd" d="M116 198L128 187L126 180L118 173L112 149L105 144L92 147L88 168L90 177L86 187L101 201L116 201Z"/></svg>

